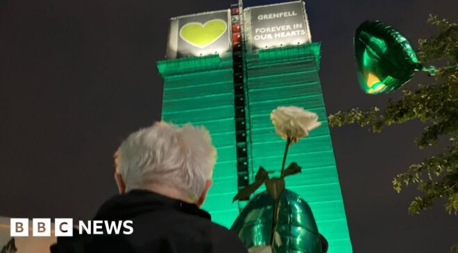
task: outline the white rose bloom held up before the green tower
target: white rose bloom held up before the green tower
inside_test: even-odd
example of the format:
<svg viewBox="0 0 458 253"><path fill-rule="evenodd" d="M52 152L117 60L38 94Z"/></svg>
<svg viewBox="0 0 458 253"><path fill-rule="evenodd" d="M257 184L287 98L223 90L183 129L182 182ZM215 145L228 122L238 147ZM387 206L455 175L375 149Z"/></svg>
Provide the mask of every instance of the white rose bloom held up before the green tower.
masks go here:
<svg viewBox="0 0 458 253"><path fill-rule="evenodd" d="M271 121L283 139L289 138L293 142L307 137L311 130L321 125L316 113L296 106L279 106L271 112Z"/></svg>

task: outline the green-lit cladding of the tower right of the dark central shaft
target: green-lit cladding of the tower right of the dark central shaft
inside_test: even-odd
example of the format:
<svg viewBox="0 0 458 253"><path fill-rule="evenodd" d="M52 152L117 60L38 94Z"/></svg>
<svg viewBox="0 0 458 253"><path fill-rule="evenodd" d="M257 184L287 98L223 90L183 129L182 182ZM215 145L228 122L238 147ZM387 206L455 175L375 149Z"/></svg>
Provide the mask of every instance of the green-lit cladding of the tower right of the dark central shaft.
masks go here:
<svg viewBox="0 0 458 253"><path fill-rule="evenodd" d="M269 119L271 110L295 105L316 112L321 127L289 150L287 164L297 162L303 172L287 177L287 188L309 203L320 233L329 241L328 252L349 253L352 247L326 121L319 55L319 43L247 54L250 162L254 171L259 166L280 170L285 140L275 134Z"/></svg>

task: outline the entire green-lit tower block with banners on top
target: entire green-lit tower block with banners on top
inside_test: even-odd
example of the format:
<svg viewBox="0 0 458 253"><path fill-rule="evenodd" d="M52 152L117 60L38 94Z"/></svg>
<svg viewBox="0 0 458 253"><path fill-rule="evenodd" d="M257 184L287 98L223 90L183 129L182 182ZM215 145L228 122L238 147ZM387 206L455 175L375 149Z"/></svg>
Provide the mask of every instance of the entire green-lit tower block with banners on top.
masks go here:
<svg viewBox="0 0 458 253"><path fill-rule="evenodd" d="M171 19L162 119L205 125L217 147L214 184L203 209L232 225L246 202L232 198L259 166L280 169L285 141L269 119L278 106L316 112L323 123L289 151L303 173L287 188L312 208L330 253L352 252L319 79L320 44L312 42L303 1L231 6ZM287 164L289 163L287 161ZM262 189L261 189L262 190Z"/></svg>

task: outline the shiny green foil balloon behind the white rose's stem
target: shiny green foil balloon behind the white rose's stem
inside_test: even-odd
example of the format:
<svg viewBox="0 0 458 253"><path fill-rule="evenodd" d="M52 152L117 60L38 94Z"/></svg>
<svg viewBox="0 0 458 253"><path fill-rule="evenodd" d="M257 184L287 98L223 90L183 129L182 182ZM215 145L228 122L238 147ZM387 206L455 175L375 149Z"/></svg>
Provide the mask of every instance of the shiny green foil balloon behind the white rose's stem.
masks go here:
<svg viewBox="0 0 458 253"><path fill-rule="evenodd" d="M247 248L269 245L272 231L273 198L264 191L246 204L230 228ZM277 253L322 253L321 238L307 202L292 191L280 197L277 232L281 238Z"/></svg>

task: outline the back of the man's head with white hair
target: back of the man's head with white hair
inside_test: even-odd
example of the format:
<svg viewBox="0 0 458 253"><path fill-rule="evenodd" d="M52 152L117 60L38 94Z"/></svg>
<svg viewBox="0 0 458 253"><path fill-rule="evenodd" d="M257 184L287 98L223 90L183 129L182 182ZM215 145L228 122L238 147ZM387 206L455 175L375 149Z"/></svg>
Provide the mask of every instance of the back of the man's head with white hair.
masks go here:
<svg viewBox="0 0 458 253"><path fill-rule="evenodd" d="M161 121L130 134L116 158L126 191L171 189L194 202L212 178L216 149L205 128Z"/></svg>

